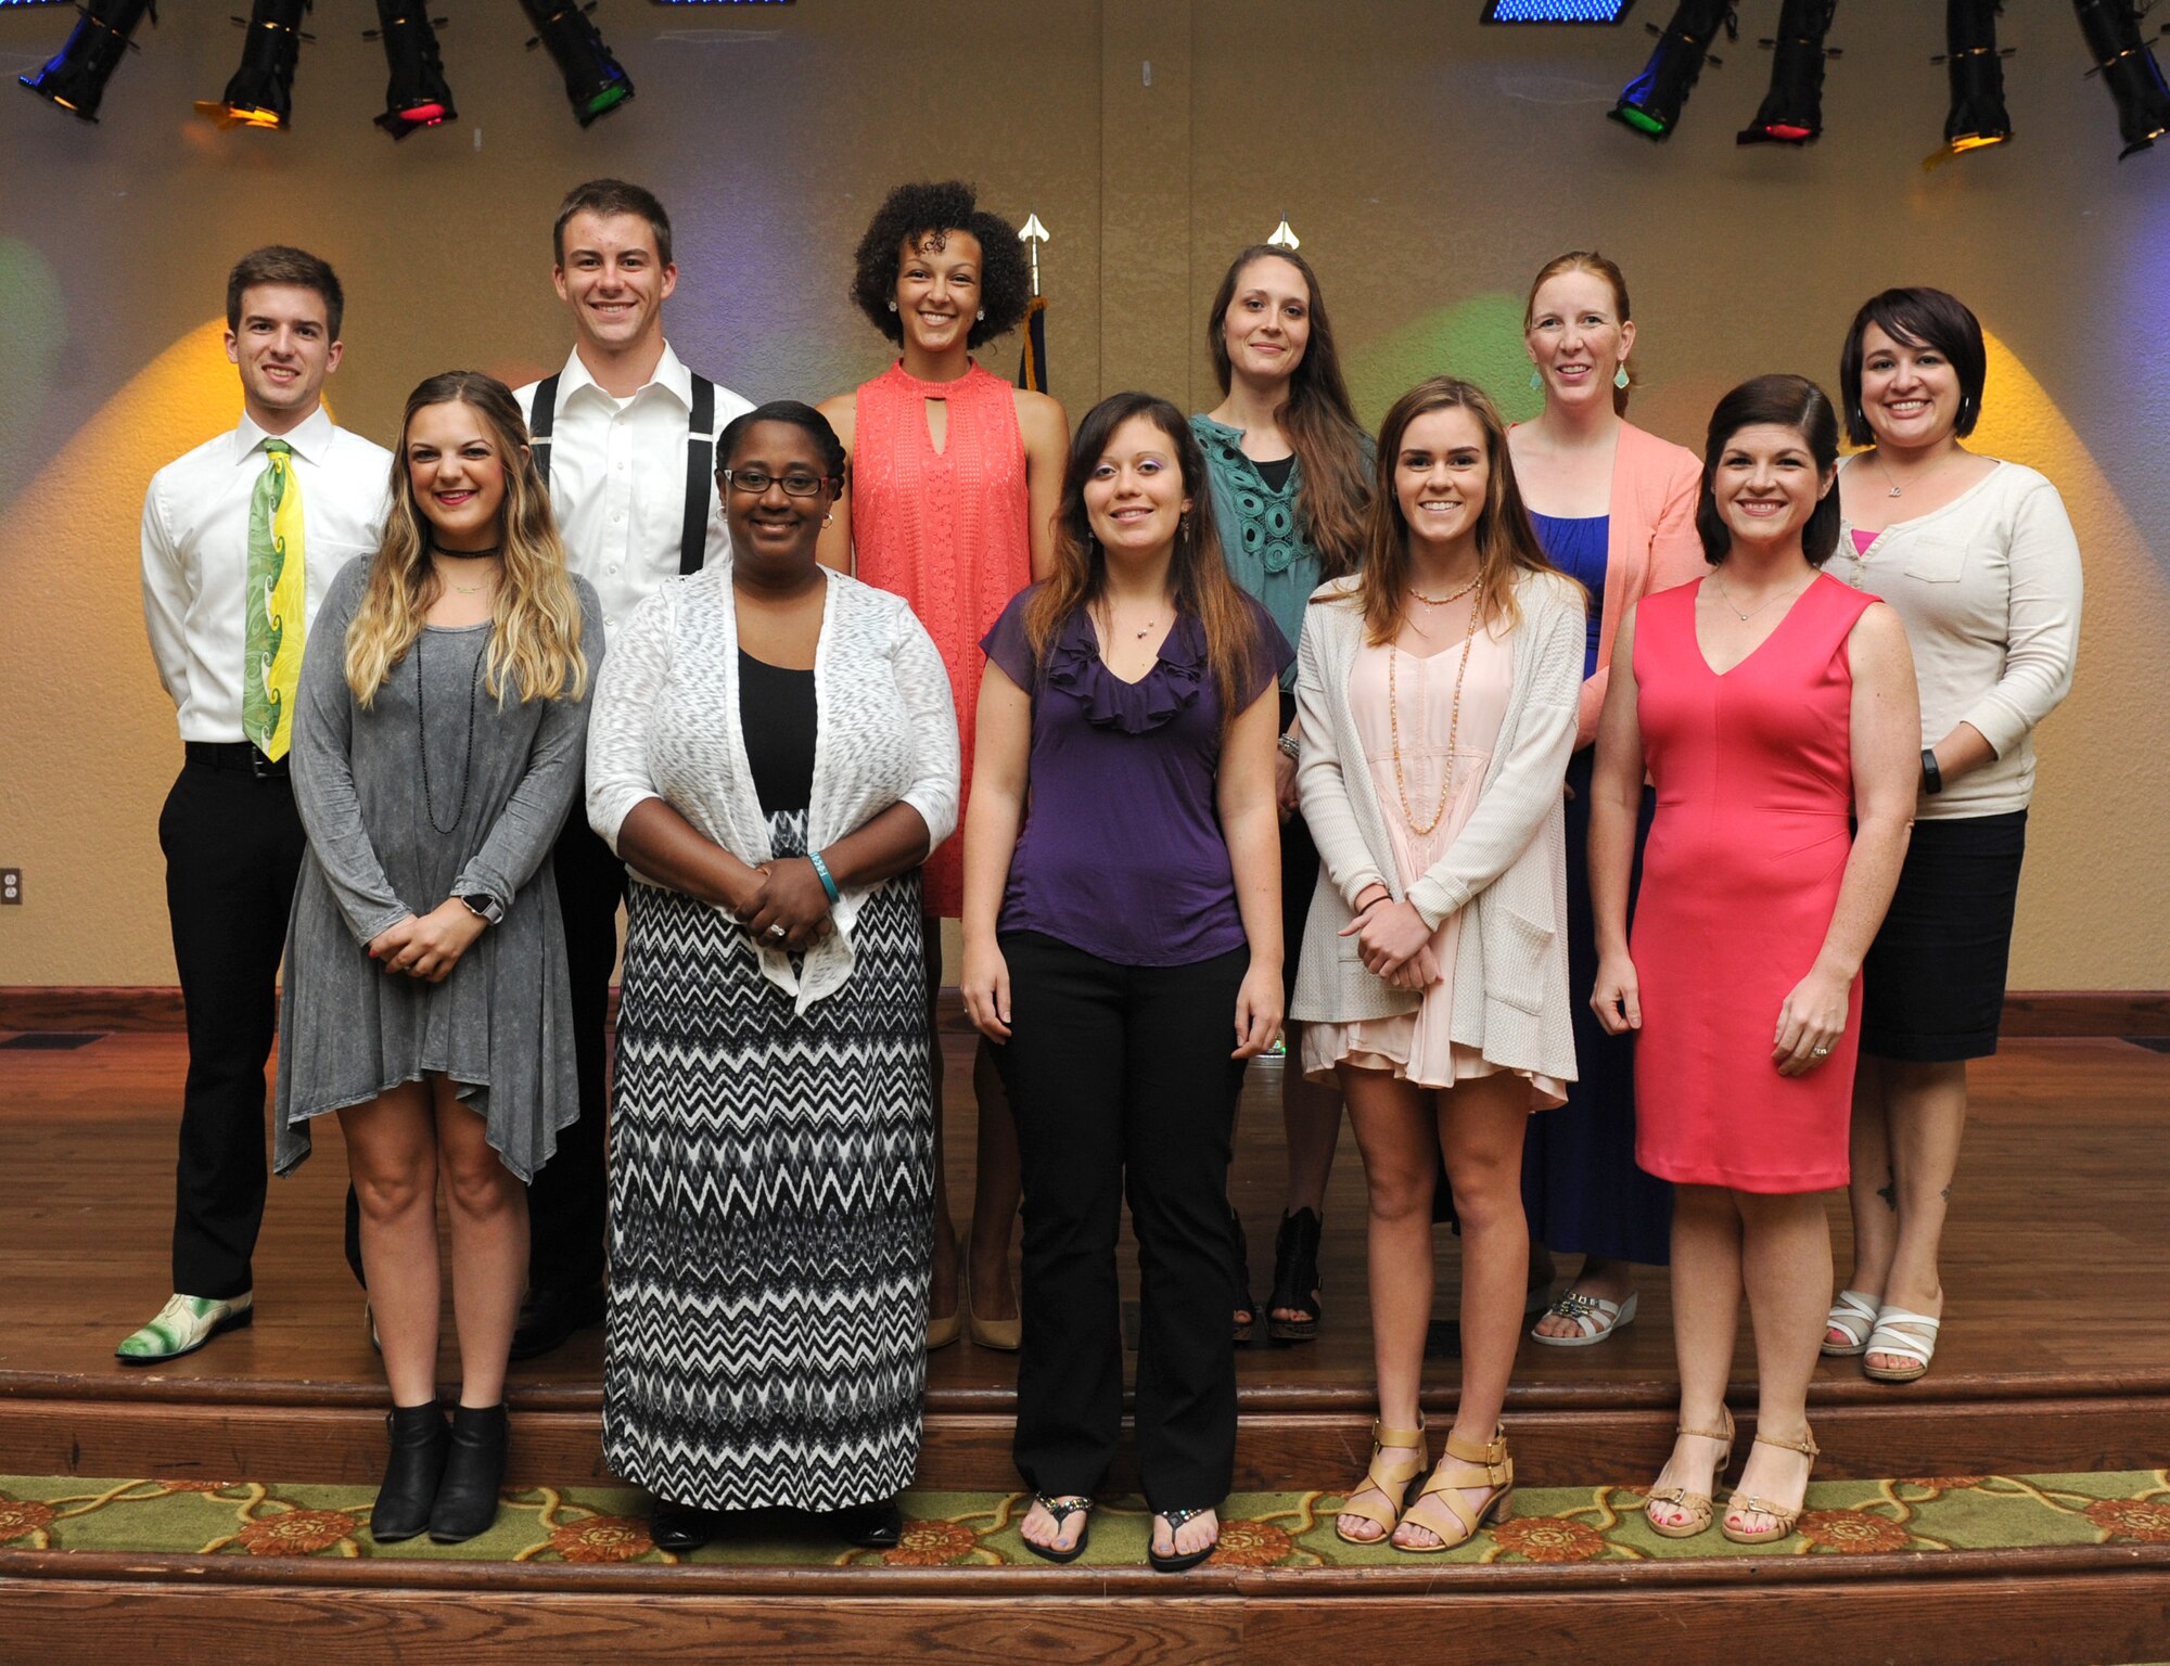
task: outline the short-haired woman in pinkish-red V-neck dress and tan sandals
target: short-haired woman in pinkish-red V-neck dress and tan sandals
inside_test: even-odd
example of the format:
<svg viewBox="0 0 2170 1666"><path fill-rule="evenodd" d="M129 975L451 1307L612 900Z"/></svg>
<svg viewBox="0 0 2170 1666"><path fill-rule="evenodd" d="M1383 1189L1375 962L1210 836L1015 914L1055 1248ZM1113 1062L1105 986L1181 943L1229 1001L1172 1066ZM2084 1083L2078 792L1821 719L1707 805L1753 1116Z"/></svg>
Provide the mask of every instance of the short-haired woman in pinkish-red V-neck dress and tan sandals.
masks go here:
<svg viewBox="0 0 2170 1666"><path fill-rule="evenodd" d="M1608 1030L1641 1030L1636 1161L1677 1189L1680 1438L1645 1503L1667 1538L1714 1514L1743 1289L1756 1445L1725 1538L1786 1538L1816 1458L1818 1193L1847 1184L1862 954L1905 857L1920 735L1897 614L1818 571L1838 544L1836 469L1814 382L1762 375L1719 401L1695 512L1710 575L1621 623L1597 731L1591 1004ZM1658 818L1630 939L1645 770Z"/></svg>

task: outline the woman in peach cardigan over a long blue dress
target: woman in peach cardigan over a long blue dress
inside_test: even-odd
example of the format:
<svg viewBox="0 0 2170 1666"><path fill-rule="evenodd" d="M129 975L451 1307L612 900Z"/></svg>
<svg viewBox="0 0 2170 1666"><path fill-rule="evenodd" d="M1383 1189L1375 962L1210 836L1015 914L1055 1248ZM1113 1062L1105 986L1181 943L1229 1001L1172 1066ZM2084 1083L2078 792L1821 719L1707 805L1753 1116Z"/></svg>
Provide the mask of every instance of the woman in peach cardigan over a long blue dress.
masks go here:
<svg viewBox="0 0 2170 1666"><path fill-rule="evenodd" d="M1567 766L1567 952L1575 989L1597 976L1588 785L1612 631L1647 592L1703 573L1695 453L1645 434L1623 414L1634 384L1634 336L1617 265L1580 249L1547 262L1523 315L1545 410L1508 434L1536 538L1591 599L1575 755ZM1645 787L1636 876L1649 818ZM1582 1256L1573 1284L1532 1332L1554 1347L1601 1343L1634 1319L1634 1263L1662 1267L1671 1254L1673 1191L1634 1163L1634 1041L1606 1035L1595 1013L1575 1002L1575 1059L1580 1080L1562 1108L1530 1126L1521 1169L1532 1241Z"/></svg>

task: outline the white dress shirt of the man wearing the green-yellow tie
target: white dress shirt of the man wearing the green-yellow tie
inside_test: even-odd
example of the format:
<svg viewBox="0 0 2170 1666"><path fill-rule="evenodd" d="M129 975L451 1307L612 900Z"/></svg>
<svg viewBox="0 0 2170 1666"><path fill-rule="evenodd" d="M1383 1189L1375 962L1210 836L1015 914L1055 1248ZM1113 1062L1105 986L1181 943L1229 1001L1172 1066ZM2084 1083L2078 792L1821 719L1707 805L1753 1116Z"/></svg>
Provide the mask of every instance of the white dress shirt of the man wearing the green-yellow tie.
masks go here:
<svg viewBox="0 0 2170 1666"><path fill-rule="evenodd" d="M182 740L234 742L247 638L250 499L265 440L293 447L302 488L304 629L339 568L384 536L393 453L334 427L319 406L291 434L243 416L230 434L176 458L143 495L143 627Z"/></svg>

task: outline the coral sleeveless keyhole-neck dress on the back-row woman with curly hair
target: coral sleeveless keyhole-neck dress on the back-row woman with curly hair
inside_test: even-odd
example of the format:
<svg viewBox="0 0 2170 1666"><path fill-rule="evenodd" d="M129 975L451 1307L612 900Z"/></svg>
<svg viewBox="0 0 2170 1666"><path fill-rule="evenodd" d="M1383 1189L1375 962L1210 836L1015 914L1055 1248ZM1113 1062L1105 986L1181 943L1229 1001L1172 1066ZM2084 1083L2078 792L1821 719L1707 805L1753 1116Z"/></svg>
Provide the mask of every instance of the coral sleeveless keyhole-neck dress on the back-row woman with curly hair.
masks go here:
<svg viewBox="0 0 2170 1666"><path fill-rule="evenodd" d="M927 401L948 406L935 451ZM963 913L963 811L972 792L979 640L1033 581L1024 436L1016 390L974 364L955 382L922 382L903 364L866 382L851 447L851 540L857 577L911 603L935 640L957 701L963 790L957 835L927 857L924 907Z"/></svg>

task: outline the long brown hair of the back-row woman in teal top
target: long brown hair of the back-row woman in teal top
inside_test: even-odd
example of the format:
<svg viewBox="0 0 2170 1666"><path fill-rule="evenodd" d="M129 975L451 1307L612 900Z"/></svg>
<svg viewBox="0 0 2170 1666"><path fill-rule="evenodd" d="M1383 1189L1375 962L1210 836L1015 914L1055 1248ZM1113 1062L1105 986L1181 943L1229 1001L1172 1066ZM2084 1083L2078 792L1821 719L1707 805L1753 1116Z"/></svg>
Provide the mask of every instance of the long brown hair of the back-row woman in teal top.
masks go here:
<svg viewBox="0 0 2170 1666"><path fill-rule="evenodd" d="M1295 249L1280 249L1272 243L1252 243L1237 254L1228 273L1213 291L1213 310L1207 312L1207 349L1213 354L1213 375L1220 377L1222 397L1235 367L1228 362L1228 336L1224 325L1228 308L1235 304L1235 286L1243 267L1252 260L1287 260L1304 278L1306 317L1311 319L1311 341L1304 356L1289 371L1289 403L1280 408L1280 432L1289 436L1300 469L1295 488L1295 516L1302 521L1304 538L1319 555L1319 575L1339 579L1356 568L1363 555L1365 503L1371 497L1371 479L1363 464L1363 425L1350 403L1350 388L1341 375L1341 351L1335 347L1335 328L1326 319L1326 297L1319 295L1319 278L1311 262Z"/></svg>

